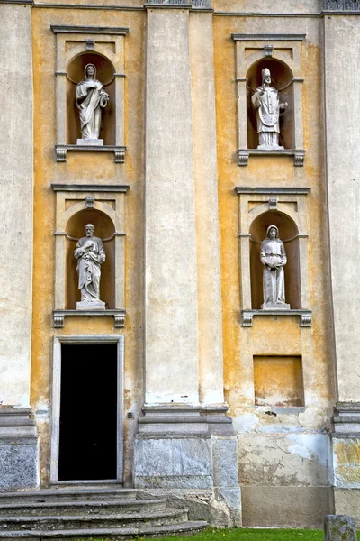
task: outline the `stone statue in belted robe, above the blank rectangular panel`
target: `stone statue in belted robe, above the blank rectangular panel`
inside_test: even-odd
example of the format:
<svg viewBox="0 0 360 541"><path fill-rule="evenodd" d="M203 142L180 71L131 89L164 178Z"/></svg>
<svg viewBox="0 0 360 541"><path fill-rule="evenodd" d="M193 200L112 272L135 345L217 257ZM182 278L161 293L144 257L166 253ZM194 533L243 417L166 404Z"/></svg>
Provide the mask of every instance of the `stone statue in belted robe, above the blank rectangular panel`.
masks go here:
<svg viewBox="0 0 360 541"><path fill-rule="evenodd" d="M286 265L286 253L284 243L279 239L279 230L276 225L269 225L266 231L266 239L261 243L260 259L264 265L263 291L266 309L290 309L285 303L285 280L284 265Z"/></svg>

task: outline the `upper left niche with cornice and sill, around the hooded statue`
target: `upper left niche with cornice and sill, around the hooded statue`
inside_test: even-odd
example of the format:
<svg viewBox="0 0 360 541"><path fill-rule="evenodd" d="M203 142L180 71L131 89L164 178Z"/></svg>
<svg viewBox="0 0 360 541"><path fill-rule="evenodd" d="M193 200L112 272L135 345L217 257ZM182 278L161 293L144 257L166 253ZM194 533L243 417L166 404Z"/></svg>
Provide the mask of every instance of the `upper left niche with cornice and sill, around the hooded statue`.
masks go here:
<svg viewBox="0 0 360 541"><path fill-rule="evenodd" d="M51 25L57 40L56 99L57 161L66 161L68 151L113 152L114 161L125 160L125 47L128 28ZM76 107L76 84L84 77L85 65L94 64L96 78L109 94L103 109L103 145L77 144L81 139Z"/></svg>

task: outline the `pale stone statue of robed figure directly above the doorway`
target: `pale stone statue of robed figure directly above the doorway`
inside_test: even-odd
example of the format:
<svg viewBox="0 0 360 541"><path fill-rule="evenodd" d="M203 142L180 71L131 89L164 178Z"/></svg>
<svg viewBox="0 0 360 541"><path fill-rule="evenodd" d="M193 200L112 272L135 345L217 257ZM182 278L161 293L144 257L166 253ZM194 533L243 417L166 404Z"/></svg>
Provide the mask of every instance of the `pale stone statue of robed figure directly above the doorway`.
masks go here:
<svg viewBox="0 0 360 541"><path fill-rule="evenodd" d="M101 265L105 261L103 242L94 236L94 225L85 225L85 237L76 243L74 256L77 260L78 289L81 290L81 302L76 309L105 309L100 300Z"/></svg>

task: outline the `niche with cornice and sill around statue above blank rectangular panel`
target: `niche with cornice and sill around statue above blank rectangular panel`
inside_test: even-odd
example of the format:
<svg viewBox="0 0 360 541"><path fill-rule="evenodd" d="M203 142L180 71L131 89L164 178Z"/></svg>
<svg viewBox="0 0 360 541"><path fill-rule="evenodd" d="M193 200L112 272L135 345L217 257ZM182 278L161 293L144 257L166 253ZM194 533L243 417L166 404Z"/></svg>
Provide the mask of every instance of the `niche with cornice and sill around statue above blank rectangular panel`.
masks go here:
<svg viewBox="0 0 360 541"><path fill-rule="evenodd" d="M301 316L311 326L306 196L310 188L238 187L238 237L242 326L253 316ZM263 264L260 247L269 225L279 228L287 264L285 298L290 310L262 310Z"/></svg>

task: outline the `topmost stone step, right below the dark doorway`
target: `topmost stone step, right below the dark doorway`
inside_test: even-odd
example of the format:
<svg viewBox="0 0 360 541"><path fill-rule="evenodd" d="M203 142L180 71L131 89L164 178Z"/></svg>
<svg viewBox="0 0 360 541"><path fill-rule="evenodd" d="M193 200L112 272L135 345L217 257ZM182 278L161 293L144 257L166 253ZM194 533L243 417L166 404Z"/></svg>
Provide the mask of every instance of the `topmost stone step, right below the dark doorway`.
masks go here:
<svg viewBox="0 0 360 541"><path fill-rule="evenodd" d="M136 489L123 489L121 487L105 486L99 488L89 486L58 487L42 491L16 491L0 492L0 505L14 503L15 501L76 501L76 500L135 500L138 496Z"/></svg>

